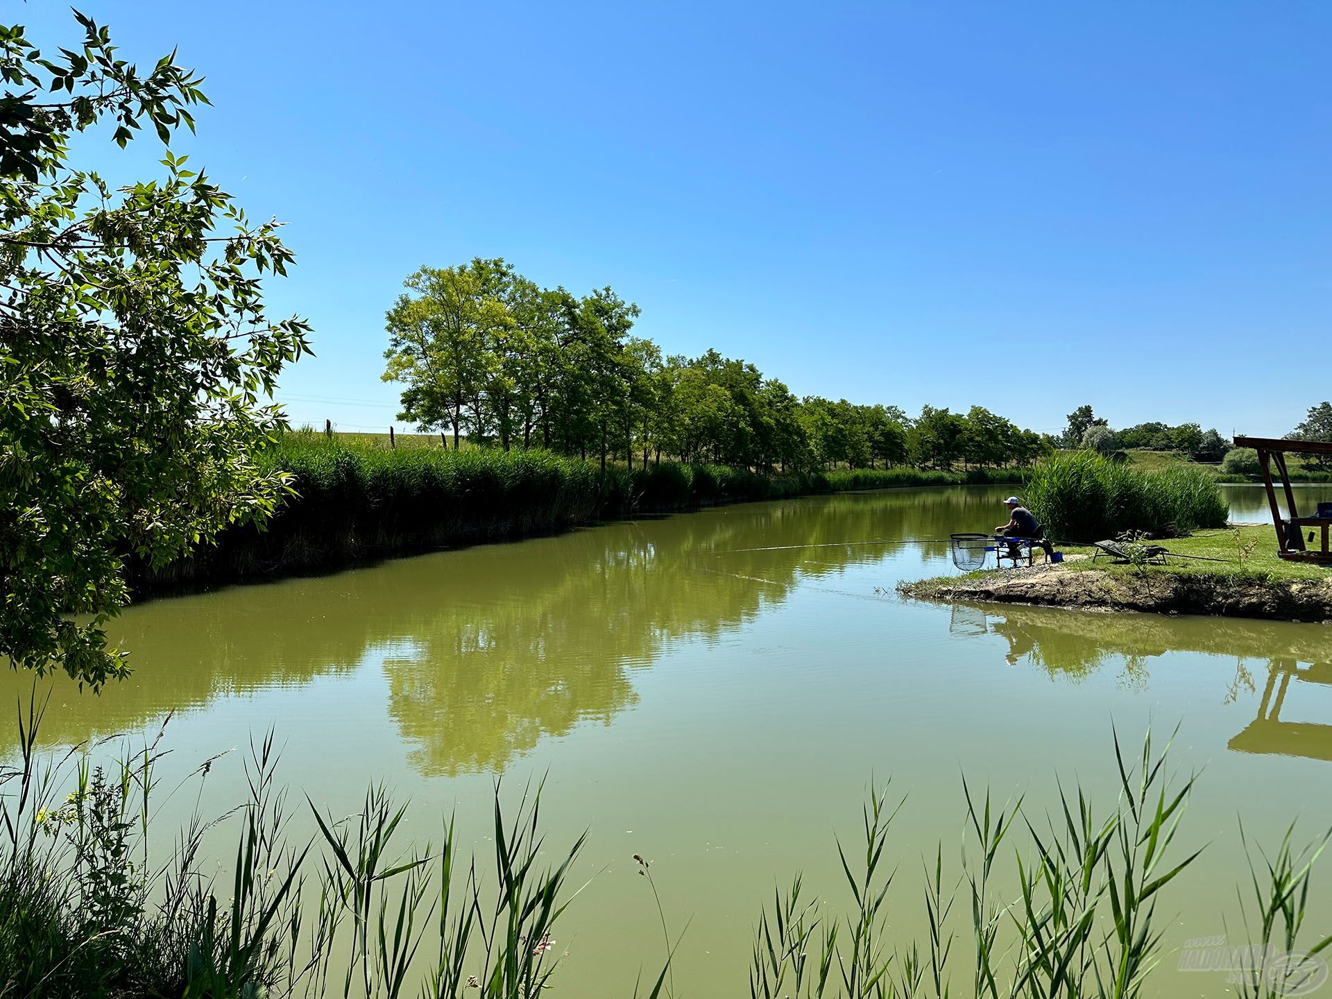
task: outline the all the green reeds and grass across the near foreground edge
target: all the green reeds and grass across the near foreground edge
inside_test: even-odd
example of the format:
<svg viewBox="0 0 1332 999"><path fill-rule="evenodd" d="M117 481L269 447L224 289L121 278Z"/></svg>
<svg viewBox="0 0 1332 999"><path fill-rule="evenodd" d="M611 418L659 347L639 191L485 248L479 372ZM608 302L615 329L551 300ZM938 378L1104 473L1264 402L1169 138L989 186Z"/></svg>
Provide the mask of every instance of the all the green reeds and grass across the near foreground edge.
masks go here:
<svg viewBox="0 0 1332 999"><path fill-rule="evenodd" d="M249 799L228 813L218 807L221 818L198 815L173 854L157 858L151 842L172 842L149 818L157 814L149 806L161 735L119 766L89 773L76 755L36 751L36 721L24 725L19 766L0 774L7 994L589 992L591 983L559 974L559 955L578 936L578 908L567 906L578 894L570 874L586 835L546 844L535 799L523 795L506 813L497 793L486 847L493 858L465 855L458 844L468 834L452 822L433 847L402 842L409 806L384 790L369 791L345 818L309 805L318 831L302 842L288 834L286 802L297 795L281 790L268 738L252 746ZM1180 823L1196 778L1177 778L1167 751L1148 737L1140 751L1126 753L1116 737L1107 755L1115 799L1095 801L1072 781L1059 786L1055 814L1036 814L1020 799L992 803L963 778L960 864L946 860L940 844L927 859L923 895L895 883L907 876L898 871L892 830L903 802L871 791L856 842L836 844L846 882L821 895L797 876L759 908L750 995L1138 995L1176 943L1164 939L1171 922L1158 906L1205 844ZM201 767L189 782L198 801L208 801L208 773ZM209 830L236 838L229 871L208 854ZM1252 987L1241 995L1285 994L1321 967L1284 954L1312 956L1332 940L1300 939L1312 864L1325 842L1301 850L1287 832L1267 852L1251 847L1251 871L1237 872L1244 887L1235 924L1245 928L1251 952L1265 956L1243 968ZM633 860L659 906L649 862ZM924 939L894 928L906 899L923 906ZM1160 911L1168 915L1172 904ZM618 994L673 994L671 962L685 958L665 951L683 915L659 910L665 942L642 942L653 970ZM741 994L743 983L718 983L718 992Z"/></svg>

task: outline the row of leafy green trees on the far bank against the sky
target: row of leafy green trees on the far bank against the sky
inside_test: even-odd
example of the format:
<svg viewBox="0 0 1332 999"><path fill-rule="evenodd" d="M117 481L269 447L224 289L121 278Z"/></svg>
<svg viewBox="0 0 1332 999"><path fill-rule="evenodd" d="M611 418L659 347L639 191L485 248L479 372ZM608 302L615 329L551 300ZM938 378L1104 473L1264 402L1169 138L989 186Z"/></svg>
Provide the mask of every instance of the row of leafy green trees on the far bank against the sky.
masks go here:
<svg viewBox="0 0 1332 999"><path fill-rule="evenodd" d="M647 464L669 456L762 470L1032 462L1051 441L987 409L798 398L753 364L663 356L610 288L538 288L503 260L422 268L388 313L385 381L424 430Z"/></svg>

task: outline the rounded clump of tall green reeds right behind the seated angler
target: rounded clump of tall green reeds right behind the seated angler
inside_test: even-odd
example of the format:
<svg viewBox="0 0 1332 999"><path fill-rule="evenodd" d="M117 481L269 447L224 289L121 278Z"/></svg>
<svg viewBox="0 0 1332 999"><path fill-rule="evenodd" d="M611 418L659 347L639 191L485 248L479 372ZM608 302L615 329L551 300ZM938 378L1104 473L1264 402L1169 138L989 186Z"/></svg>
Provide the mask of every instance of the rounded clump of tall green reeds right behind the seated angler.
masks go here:
<svg viewBox="0 0 1332 999"><path fill-rule="evenodd" d="M1140 472L1094 452L1055 454L1024 486L1028 509L1055 541L1102 541L1132 531L1181 537L1224 527L1229 507L1200 468Z"/></svg>

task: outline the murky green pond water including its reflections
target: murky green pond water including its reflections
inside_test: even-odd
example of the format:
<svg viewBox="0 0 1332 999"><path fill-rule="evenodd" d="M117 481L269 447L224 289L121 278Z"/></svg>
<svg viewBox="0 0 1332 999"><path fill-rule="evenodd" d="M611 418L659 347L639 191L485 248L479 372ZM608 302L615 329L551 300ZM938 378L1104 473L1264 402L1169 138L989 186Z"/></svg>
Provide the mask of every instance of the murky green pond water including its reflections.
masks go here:
<svg viewBox="0 0 1332 999"><path fill-rule="evenodd" d="M1259 489L1228 492L1232 517L1265 518ZM135 677L100 698L56 685L45 737L156 731L174 711L166 766L184 773L273 727L282 773L317 803L346 814L382 779L413 799L414 834L457 809L482 850L494 779L545 775L550 842L590 830L559 994L623 995L659 967L637 852L673 931L689 922L677 992L701 996L746 991L774 882L801 870L840 903L834 835L854 834L871 779L907 795L892 838L904 939L919 858L939 839L956 856L962 771L1035 809L1056 773L1110 797L1111 726L1136 742L1179 722L1176 765L1204 770L1184 836L1208 847L1163 904L1164 946L1224 934L1223 915L1236 936L1236 817L1268 842L1295 817L1309 836L1332 825L1332 629L895 595L951 571L947 546L922 539L998 523L1003 496L735 506L155 601L115 627ZM29 691L0 683L11 703ZM241 797L240 755L209 775L218 809ZM1332 932L1332 904L1309 928ZM1154 994L1233 991L1176 963Z"/></svg>

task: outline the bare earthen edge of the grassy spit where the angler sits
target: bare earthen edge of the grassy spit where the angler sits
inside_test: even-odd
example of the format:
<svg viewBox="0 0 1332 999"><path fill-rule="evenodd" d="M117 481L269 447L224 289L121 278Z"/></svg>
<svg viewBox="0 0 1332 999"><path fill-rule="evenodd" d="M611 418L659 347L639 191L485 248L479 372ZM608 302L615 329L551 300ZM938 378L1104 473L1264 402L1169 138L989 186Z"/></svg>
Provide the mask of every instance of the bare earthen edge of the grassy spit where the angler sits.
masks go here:
<svg viewBox="0 0 1332 999"><path fill-rule="evenodd" d="M1261 573L1135 573L1060 563L919 579L896 589L910 599L940 603L1332 622L1332 573L1324 579L1272 579Z"/></svg>

